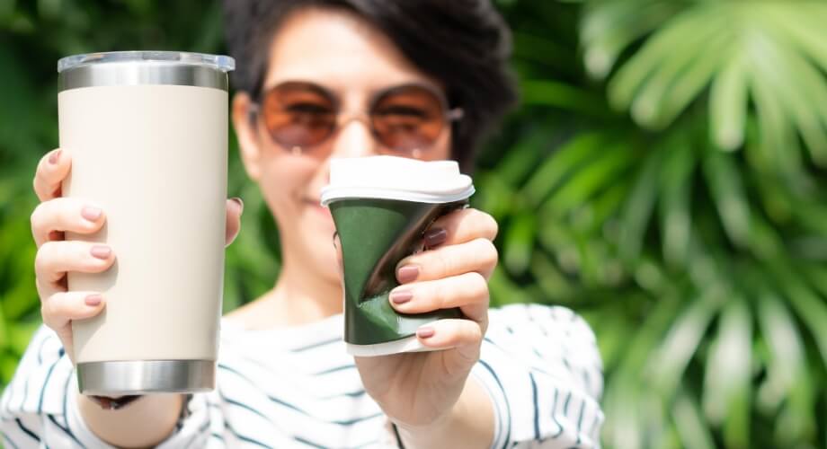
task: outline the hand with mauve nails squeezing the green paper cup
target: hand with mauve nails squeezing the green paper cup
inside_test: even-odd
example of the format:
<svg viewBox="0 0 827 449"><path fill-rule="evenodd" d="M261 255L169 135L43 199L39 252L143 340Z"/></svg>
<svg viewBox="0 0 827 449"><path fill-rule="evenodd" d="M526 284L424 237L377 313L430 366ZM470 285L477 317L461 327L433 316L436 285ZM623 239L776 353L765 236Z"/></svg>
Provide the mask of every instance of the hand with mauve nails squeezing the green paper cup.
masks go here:
<svg viewBox="0 0 827 449"><path fill-rule="evenodd" d="M425 233L422 251L396 268L401 286L390 295L403 313L458 307L467 319L440 320L417 331L428 348L384 357L356 357L362 383L388 418L400 426L428 428L457 404L479 360L488 327L488 278L497 264L497 223L476 209L442 216Z"/></svg>

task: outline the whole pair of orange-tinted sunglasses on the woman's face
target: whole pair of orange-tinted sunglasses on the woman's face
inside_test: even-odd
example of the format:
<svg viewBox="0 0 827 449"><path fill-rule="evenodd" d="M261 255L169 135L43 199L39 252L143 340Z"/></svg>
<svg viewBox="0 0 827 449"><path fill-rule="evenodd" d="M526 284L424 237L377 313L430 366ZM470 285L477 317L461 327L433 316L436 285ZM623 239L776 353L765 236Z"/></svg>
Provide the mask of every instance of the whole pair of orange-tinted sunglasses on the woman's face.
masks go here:
<svg viewBox="0 0 827 449"><path fill-rule="evenodd" d="M339 99L324 87L305 82L278 84L253 103L254 114L273 142L292 154L325 156L325 142L344 124L360 119L376 138L379 153L422 158L450 122L462 118L445 98L422 84L403 84L378 92L367 114L341 117Z"/></svg>

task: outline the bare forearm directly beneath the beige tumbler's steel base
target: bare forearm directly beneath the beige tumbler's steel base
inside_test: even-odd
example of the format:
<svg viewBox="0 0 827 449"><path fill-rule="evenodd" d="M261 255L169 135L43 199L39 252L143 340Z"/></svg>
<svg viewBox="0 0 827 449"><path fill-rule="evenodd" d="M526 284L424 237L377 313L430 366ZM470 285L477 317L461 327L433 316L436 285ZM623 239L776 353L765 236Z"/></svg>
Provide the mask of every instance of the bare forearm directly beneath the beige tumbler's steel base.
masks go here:
<svg viewBox="0 0 827 449"><path fill-rule="evenodd" d="M103 441L119 447L153 447L172 434L181 415L181 394L149 394L123 409L108 410L77 394L86 426Z"/></svg>

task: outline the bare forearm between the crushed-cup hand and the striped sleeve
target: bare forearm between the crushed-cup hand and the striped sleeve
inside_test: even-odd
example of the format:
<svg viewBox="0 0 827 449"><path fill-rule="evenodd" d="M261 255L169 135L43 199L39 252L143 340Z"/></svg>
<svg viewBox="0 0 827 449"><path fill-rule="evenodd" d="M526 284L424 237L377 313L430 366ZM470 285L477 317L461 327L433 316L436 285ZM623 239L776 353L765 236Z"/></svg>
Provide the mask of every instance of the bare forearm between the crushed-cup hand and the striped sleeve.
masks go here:
<svg viewBox="0 0 827 449"><path fill-rule="evenodd" d="M473 377L448 416L427 427L398 425L406 449L487 449L494 439L494 405Z"/></svg>

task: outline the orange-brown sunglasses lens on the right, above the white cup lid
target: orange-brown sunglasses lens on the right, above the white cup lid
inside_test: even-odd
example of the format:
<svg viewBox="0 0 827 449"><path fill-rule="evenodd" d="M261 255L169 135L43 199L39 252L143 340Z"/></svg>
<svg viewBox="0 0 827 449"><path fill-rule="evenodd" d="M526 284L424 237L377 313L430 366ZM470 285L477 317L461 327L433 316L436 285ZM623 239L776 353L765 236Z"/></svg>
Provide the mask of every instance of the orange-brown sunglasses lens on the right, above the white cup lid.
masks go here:
<svg viewBox="0 0 827 449"><path fill-rule="evenodd" d="M433 92L406 86L383 94L370 114L379 142L400 153L427 150L445 123L442 102Z"/></svg>

